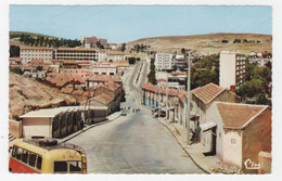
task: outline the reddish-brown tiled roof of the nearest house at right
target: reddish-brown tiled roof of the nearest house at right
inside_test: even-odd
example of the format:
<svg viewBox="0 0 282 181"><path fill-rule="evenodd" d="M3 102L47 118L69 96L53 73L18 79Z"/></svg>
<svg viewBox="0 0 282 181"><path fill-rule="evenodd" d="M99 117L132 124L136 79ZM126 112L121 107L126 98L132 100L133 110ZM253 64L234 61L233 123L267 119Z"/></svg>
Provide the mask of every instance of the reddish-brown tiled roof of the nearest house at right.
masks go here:
<svg viewBox="0 0 282 181"><path fill-rule="evenodd" d="M243 129L257 117L267 105L251 105L216 102L218 113L226 129Z"/></svg>

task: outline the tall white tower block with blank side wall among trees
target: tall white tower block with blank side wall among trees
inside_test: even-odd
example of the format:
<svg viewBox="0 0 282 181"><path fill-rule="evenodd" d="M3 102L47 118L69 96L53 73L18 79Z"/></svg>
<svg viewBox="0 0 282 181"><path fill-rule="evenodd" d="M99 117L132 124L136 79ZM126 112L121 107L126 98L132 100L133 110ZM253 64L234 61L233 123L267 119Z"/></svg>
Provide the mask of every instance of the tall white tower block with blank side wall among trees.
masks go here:
<svg viewBox="0 0 282 181"><path fill-rule="evenodd" d="M222 51L219 57L219 86L235 91L245 81L245 61L243 54Z"/></svg>

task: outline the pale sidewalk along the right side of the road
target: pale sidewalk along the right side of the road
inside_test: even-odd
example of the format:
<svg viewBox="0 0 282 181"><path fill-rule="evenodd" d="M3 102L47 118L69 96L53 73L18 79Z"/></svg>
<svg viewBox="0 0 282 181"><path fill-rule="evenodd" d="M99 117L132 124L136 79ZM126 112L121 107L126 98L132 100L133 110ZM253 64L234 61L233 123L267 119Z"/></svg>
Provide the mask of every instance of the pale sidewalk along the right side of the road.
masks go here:
<svg viewBox="0 0 282 181"><path fill-rule="evenodd" d="M187 152L190 158L206 173L242 173L235 167L223 165L216 156L205 156L203 152L205 147L201 143L188 145L187 144L187 130L179 124L167 122L165 118L158 118L176 138L179 145Z"/></svg>

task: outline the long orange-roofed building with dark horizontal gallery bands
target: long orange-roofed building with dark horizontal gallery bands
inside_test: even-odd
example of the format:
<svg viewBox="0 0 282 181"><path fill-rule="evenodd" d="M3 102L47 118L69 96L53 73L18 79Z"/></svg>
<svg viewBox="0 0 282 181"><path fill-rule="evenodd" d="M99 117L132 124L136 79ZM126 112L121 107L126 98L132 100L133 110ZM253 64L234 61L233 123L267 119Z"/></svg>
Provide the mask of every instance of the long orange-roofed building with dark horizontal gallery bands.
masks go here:
<svg viewBox="0 0 282 181"><path fill-rule="evenodd" d="M55 60L97 61L95 49L57 48L54 55Z"/></svg>

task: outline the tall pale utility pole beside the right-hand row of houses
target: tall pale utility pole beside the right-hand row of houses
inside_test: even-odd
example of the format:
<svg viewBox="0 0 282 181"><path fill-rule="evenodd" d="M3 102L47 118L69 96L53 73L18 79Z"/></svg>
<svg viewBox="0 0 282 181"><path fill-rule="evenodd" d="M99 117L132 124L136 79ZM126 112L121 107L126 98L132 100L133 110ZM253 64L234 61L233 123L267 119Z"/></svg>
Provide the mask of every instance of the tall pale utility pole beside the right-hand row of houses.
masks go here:
<svg viewBox="0 0 282 181"><path fill-rule="evenodd" d="M187 74L187 143L190 144L190 50L188 54L188 74Z"/></svg>

